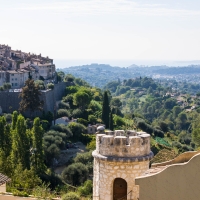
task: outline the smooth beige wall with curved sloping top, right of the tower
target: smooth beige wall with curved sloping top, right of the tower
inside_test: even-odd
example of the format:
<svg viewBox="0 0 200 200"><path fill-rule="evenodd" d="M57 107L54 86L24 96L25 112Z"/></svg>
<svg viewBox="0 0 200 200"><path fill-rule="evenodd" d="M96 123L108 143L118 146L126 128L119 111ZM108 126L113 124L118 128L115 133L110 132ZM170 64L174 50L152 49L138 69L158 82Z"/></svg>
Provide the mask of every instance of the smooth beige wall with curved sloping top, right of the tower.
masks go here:
<svg viewBox="0 0 200 200"><path fill-rule="evenodd" d="M138 177L135 183L140 188L140 200L199 200L200 154L157 174Z"/></svg>

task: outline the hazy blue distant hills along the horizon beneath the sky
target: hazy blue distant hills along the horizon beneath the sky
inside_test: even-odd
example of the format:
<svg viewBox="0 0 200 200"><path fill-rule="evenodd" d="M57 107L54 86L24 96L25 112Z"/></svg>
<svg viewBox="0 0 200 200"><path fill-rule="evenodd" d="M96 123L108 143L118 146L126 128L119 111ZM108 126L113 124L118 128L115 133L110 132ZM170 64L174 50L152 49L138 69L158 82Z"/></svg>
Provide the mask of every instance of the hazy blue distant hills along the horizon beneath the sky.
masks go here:
<svg viewBox="0 0 200 200"><path fill-rule="evenodd" d="M200 65L191 65L186 67L168 67L168 66L137 66L135 64L129 67L110 66L108 64L93 63L91 65L82 65L68 67L62 70L66 74L72 74L77 78L87 81L91 86L103 88L111 81L123 81L136 77L150 77L153 79L176 79L177 81L200 83Z"/></svg>

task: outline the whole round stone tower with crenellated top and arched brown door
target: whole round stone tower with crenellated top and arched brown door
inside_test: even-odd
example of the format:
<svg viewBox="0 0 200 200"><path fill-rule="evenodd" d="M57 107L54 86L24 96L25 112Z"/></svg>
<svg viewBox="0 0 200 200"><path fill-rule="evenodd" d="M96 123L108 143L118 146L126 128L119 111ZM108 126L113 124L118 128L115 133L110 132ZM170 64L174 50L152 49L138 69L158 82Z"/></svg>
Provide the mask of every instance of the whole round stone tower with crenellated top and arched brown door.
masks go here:
<svg viewBox="0 0 200 200"><path fill-rule="evenodd" d="M137 200L135 178L149 169L150 135L134 130L96 135L93 200Z"/></svg>

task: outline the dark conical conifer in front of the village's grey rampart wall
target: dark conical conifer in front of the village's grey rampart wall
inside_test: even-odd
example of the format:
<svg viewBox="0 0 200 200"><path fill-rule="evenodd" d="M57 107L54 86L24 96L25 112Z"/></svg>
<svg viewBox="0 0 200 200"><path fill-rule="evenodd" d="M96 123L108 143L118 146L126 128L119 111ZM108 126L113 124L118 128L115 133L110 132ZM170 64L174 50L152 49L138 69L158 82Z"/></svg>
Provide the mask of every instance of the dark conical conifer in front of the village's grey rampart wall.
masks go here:
<svg viewBox="0 0 200 200"><path fill-rule="evenodd" d="M30 111L31 116L34 111L42 110L44 102L40 100L40 95L39 86L35 85L34 80L28 79L19 95L21 97L19 110L21 112Z"/></svg>

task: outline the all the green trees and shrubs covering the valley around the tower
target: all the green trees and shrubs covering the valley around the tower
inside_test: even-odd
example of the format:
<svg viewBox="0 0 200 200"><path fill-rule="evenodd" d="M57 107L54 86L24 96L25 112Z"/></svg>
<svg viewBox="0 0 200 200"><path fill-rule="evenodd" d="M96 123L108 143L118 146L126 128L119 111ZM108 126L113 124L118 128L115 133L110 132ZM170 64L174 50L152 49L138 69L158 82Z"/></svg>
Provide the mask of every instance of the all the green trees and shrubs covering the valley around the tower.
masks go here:
<svg viewBox="0 0 200 200"><path fill-rule="evenodd" d="M8 191L13 194L90 199L91 152L96 143L95 135L87 134L88 124L104 123L110 130L135 129L151 134L151 149L157 155L152 162L171 159L200 146L199 93L191 96L174 91L147 77L114 80L102 90L71 74L58 72L58 79L71 82L71 86L65 89L57 116L47 112L41 118L28 119L15 111L0 117L0 172L12 179ZM39 97L42 84L30 85ZM22 94L29 91L28 87L27 84ZM26 102L23 105L34 112L41 102L34 104L32 110ZM67 117L70 123L52 125L54 117ZM86 146L86 152L62 163L61 175L56 174L60 155L67 155L68 147L76 148L78 142Z"/></svg>

